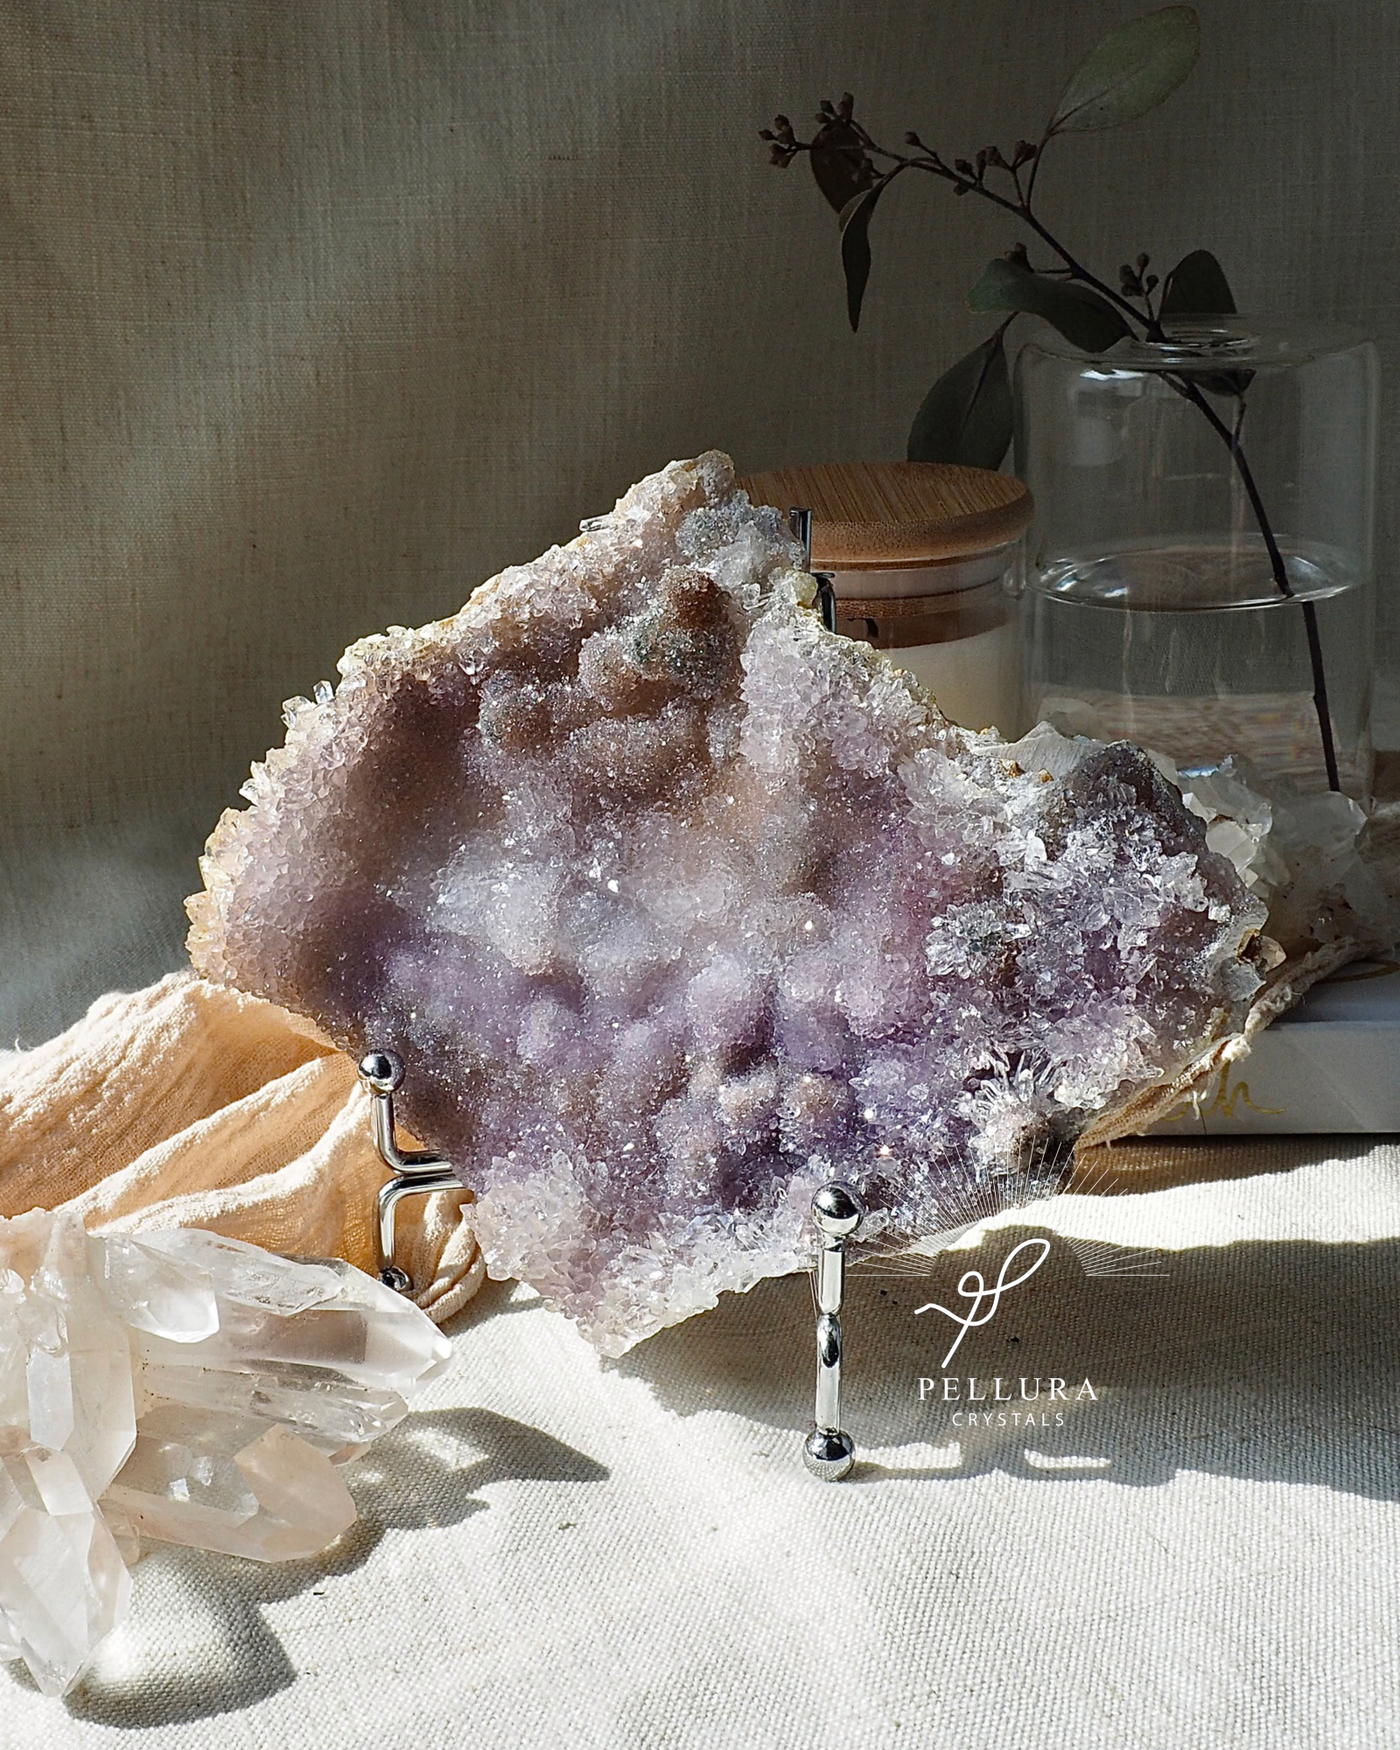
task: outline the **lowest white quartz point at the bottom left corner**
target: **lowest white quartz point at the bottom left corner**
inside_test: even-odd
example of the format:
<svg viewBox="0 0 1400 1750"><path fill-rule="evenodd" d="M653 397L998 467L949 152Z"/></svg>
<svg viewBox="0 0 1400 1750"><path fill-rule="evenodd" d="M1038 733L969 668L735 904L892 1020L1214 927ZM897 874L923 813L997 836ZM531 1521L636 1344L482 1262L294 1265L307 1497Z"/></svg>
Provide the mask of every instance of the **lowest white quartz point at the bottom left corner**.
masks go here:
<svg viewBox="0 0 1400 1750"><path fill-rule="evenodd" d="M0 1640L46 1696L82 1675L121 1622L131 1577L77 1465L24 1446L0 1452Z"/></svg>

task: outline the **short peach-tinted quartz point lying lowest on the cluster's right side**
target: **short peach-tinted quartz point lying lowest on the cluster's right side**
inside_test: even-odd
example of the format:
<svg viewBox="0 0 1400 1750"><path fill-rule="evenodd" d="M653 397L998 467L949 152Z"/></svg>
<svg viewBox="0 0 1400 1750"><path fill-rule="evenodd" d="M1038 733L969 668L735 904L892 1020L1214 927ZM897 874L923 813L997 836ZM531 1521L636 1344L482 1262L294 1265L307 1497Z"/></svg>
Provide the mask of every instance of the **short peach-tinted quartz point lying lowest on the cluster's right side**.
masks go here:
<svg viewBox="0 0 1400 1750"><path fill-rule="evenodd" d="M136 1531L252 1561L315 1556L355 1522L340 1472L256 1416L161 1404L107 1491Z"/></svg>

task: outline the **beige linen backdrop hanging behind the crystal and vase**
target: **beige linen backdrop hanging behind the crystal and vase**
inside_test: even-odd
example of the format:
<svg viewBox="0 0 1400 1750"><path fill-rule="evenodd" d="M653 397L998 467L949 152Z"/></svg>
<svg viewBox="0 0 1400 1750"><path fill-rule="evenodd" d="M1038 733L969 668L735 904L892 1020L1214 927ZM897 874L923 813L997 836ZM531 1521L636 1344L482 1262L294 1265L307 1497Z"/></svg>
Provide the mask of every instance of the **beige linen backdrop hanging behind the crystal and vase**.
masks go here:
<svg viewBox="0 0 1400 1750"><path fill-rule="evenodd" d="M850 88L878 136L1010 145L1136 10L4 0L0 1040L178 964L203 836L350 639L704 446L901 455L1015 228L898 186L852 336L756 130ZM1046 214L1110 275L1211 247L1390 368L1395 9L1206 0L1202 37L1155 116L1055 145Z"/></svg>

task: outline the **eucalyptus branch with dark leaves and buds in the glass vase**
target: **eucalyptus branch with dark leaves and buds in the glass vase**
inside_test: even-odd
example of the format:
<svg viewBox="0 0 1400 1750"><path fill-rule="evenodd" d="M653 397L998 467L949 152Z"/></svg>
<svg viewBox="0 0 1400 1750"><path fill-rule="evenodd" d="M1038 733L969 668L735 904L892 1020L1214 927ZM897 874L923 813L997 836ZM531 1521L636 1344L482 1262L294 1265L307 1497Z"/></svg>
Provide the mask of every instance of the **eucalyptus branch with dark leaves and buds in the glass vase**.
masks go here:
<svg viewBox="0 0 1400 1750"><path fill-rule="evenodd" d="M1200 47L1200 24L1188 5L1169 5L1115 30L1080 63L1055 107L1040 142L1017 140L1010 152L984 145L973 158L948 163L910 131L905 150L880 145L856 119L856 100L845 93L838 103L822 100L817 131L798 138L791 121L779 116L761 130L770 159L788 168L807 154L817 187L840 215L842 266L850 327L859 327L861 304L870 282L870 220L884 191L908 172L947 182L957 196L973 194L1024 224L1054 257L1046 266L1031 262L1024 242L990 261L968 294L973 310L1004 313L992 334L966 359L959 359L928 392L908 436L910 460L968 462L999 467L1012 441L1012 385L1006 369L1006 331L1017 315L1043 317L1071 345L1106 352L1127 336L1166 341L1169 317L1234 315L1236 301L1220 262L1208 250L1194 250L1166 276L1150 273L1143 252L1118 270L1111 285L1092 273L1034 210L1036 178L1046 147L1064 133L1116 128L1157 108L1186 79ZM1160 292L1160 296L1157 296ZM1155 301L1153 301L1155 299ZM1248 371L1158 373L1171 388L1190 401L1227 444L1239 483L1250 500L1269 556L1278 590L1292 597L1293 586L1250 469L1241 430ZM1232 397L1236 413L1222 418L1211 396ZM1318 712L1326 780L1340 789L1332 716L1326 704L1318 614L1312 602L1300 602L1312 668L1312 704Z"/></svg>

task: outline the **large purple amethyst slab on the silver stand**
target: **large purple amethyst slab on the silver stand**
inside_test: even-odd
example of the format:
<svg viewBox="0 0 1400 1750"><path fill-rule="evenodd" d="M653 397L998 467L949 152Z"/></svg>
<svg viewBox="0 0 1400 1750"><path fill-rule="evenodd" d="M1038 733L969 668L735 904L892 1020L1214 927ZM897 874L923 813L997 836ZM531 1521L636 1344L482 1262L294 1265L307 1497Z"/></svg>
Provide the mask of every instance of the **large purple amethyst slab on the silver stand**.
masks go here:
<svg viewBox="0 0 1400 1750"><path fill-rule="evenodd" d="M1120 744L950 724L822 630L710 452L287 707L191 903L206 978L408 1064L490 1272L607 1354L884 1244L1234 1031L1264 906ZM982 1199L982 1200L980 1200Z"/></svg>

